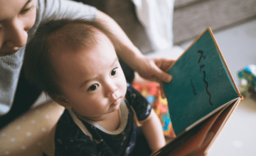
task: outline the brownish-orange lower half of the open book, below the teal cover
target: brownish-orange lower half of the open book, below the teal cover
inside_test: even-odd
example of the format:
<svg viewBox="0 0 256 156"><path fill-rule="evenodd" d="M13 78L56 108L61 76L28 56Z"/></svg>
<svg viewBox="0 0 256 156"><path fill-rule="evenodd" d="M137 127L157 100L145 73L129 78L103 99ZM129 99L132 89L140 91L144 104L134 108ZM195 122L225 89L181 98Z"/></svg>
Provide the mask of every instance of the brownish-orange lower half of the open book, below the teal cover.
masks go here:
<svg viewBox="0 0 256 156"><path fill-rule="evenodd" d="M240 101L240 98L236 99L230 106L220 109L191 130L181 133L156 155L206 155Z"/></svg>

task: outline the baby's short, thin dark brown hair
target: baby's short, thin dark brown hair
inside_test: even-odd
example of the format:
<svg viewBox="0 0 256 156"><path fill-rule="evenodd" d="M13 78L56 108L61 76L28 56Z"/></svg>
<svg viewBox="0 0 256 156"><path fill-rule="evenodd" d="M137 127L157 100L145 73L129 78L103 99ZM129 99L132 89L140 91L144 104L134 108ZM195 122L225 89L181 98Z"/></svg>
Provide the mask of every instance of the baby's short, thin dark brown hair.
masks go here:
<svg viewBox="0 0 256 156"><path fill-rule="evenodd" d="M42 23L26 45L23 67L31 84L46 92L53 100L62 95L57 72L53 68L51 53L60 45L79 48L97 42L97 30L107 35L117 51L117 39L100 21L85 19L58 19Z"/></svg>

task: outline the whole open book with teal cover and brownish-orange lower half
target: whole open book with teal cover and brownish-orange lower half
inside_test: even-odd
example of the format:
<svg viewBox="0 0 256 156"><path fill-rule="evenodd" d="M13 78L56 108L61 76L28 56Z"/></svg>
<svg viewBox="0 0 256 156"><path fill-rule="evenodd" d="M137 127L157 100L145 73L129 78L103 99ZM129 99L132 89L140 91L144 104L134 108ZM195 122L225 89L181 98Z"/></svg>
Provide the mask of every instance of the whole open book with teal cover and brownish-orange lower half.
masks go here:
<svg viewBox="0 0 256 156"><path fill-rule="evenodd" d="M164 84L176 138L158 155L206 155L242 96L207 28L168 70Z"/></svg>

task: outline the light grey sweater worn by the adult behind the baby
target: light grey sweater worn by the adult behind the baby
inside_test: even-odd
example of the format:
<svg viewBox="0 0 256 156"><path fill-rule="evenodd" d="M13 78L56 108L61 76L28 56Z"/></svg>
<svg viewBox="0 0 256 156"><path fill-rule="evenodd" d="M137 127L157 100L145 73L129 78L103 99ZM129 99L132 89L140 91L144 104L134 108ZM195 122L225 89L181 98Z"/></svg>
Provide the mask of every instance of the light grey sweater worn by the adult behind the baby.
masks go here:
<svg viewBox="0 0 256 156"><path fill-rule="evenodd" d="M93 20L97 18L97 9L69 0L36 0L36 22L28 30L27 42L36 33L40 23L63 17ZM0 57L0 116L8 113L14 102L25 46L14 55Z"/></svg>

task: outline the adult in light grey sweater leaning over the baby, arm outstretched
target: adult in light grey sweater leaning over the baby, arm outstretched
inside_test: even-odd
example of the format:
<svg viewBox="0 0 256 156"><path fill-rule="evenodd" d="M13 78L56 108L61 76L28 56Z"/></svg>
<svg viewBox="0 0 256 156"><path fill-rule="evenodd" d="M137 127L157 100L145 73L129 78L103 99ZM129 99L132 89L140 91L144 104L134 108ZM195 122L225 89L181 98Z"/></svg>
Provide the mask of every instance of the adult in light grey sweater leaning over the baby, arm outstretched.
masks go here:
<svg viewBox="0 0 256 156"><path fill-rule="evenodd" d="M122 52L117 53L119 58L140 76L156 82L171 82L171 75L163 72L171 64L171 60L142 55L110 16L91 6L64 0L1 0L0 128L28 111L41 94L41 90L33 87L23 77L23 53L27 41L41 22L50 18L62 18L74 12L77 16L72 18L103 21L118 36L122 49Z"/></svg>

